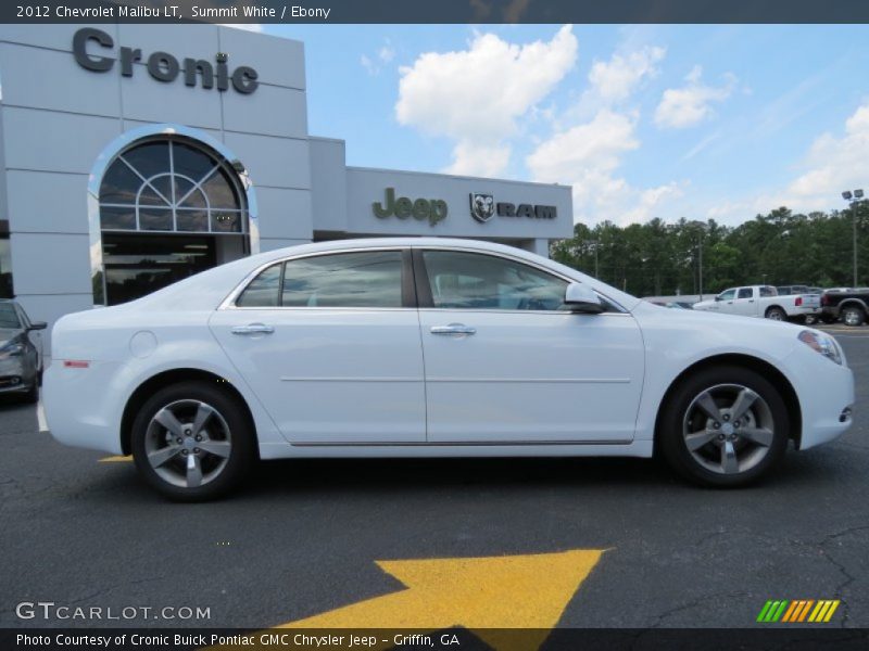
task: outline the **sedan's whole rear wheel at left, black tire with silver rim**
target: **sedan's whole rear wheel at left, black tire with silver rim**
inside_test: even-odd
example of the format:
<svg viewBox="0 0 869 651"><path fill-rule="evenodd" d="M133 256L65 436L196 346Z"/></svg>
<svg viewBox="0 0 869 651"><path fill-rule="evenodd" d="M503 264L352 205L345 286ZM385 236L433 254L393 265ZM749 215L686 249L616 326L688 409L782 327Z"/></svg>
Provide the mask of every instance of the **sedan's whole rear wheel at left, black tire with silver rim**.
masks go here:
<svg viewBox="0 0 869 651"><path fill-rule="evenodd" d="M156 392L136 414L130 443L139 474L173 501L222 497L241 484L256 460L256 436L243 405L206 382Z"/></svg>

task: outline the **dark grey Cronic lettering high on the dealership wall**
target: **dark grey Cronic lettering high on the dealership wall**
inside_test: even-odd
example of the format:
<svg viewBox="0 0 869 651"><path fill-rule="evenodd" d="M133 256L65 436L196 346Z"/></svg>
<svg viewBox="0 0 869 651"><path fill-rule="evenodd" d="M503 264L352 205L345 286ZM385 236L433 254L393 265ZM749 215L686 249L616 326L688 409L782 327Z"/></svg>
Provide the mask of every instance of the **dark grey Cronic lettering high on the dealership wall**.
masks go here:
<svg viewBox="0 0 869 651"><path fill-rule="evenodd" d="M101 29L85 27L73 36L73 55L83 68L95 73L108 73L115 64L115 60L98 52L88 52L88 43L95 41L101 48L112 49L115 47L114 40L110 35ZM133 64L143 61L142 51L139 48L121 48L121 74L124 77L133 76ZM196 86L201 79L202 88L211 89L217 86L217 90L224 91L232 84L238 92L250 94L260 82L256 80L256 71L247 65L238 66L231 74L227 66L228 55L218 52L215 56L215 64L204 59L184 60L184 82L185 86ZM153 52L147 60L148 74L158 81L166 84L175 81L181 73L181 64L168 52Z"/></svg>

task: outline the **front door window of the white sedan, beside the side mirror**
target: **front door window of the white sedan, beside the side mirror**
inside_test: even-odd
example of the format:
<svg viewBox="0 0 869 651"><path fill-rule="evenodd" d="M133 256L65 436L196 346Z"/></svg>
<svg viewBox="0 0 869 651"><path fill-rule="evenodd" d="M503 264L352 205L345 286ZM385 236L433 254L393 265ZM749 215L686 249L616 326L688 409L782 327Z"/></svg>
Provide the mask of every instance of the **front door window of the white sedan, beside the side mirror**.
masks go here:
<svg viewBox="0 0 869 651"><path fill-rule="evenodd" d="M425 251L433 307L566 309L567 281L521 263L478 253Z"/></svg>

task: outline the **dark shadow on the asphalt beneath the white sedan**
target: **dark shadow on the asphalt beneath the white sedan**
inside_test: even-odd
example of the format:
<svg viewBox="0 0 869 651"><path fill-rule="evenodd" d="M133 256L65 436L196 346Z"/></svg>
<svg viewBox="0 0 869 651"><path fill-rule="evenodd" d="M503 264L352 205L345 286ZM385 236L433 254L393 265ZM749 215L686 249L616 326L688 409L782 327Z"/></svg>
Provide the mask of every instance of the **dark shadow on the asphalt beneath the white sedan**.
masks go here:
<svg viewBox="0 0 869 651"><path fill-rule="evenodd" d="M813 454L790 451L769 477L743 488L721 490L677 476L657 459L618 457L518 457L439 459L281 459L259 463L244 485L225 500L277 503L308 499L401 499L429 495L538 494L580 492L583 497L635 499L638 495L684 496L709 493L773 492L786 494L836 489L860 471L843 465L846 450ZM105 464L108 472L79 488L89 499L114 505L163 502L138 476L133 463ZM854 475L854 476L852 476ZM219 503L219 501L217 502Z"/></svg>

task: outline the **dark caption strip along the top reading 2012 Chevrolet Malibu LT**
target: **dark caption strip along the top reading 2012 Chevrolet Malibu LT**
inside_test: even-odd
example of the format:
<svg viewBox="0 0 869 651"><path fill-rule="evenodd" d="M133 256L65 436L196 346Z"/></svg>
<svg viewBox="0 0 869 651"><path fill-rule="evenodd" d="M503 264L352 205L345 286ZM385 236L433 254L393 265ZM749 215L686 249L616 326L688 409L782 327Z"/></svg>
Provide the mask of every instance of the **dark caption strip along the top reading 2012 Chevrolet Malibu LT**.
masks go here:
<svg viewBox="0 0 869 651"><path fill-rule="evenodd" d="M42 0L2 23L868 23L865 0Z"/></svg>

